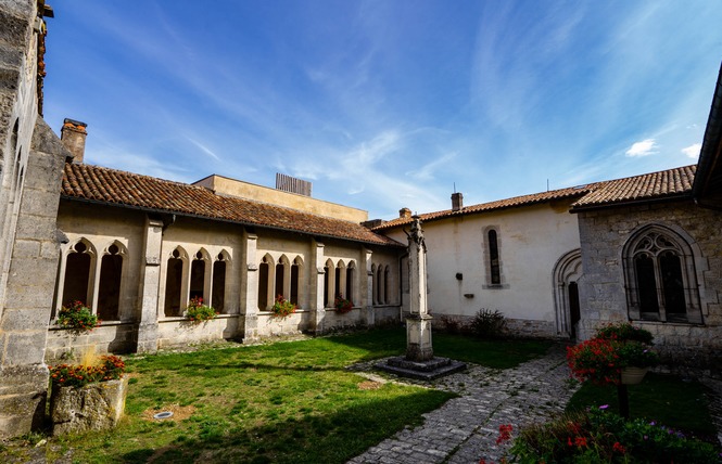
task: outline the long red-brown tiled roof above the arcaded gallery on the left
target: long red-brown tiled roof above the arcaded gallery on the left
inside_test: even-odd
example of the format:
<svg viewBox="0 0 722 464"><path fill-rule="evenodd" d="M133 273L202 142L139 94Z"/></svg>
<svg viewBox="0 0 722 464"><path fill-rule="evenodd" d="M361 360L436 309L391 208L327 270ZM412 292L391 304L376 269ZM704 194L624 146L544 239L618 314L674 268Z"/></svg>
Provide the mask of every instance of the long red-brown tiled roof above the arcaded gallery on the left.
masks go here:
<svg viewBox="0 0 722 464"><path fill-rule="evenodd" d="M355 222L261 202L220 196L202 186L100 166L66 163L61 196L66 199L194 216L375 245L401 246L398 242L376 234Z"/></svg>

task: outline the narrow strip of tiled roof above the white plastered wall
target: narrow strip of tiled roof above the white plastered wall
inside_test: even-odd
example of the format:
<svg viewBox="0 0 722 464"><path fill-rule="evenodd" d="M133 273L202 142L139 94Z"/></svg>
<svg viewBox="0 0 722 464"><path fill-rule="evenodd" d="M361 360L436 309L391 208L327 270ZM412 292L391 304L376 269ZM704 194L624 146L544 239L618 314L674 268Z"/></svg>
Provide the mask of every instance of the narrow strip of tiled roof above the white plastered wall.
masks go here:
<svg viewBox="0 0 722 464"><path fill-rule="evenodd" d="M489 203L481 203L478 205L471 205L471 206L465 206L459 210L452 210L452 209L445 209L443 211L435 211L435 212L427 212L423 215L419 215L419 218L421 219L422 222L429 222L433 220L439 220L439 219L445 219L445 218L451 218L451 217L456 217L456 216L466 216L466 215L473 215L473 214L479 214L479 212L485 212L485 211L493 211L497 209L507 209L507 208L514 208L514 207L519 207L519 206L529 206L529 205L534 205L539 203L544 203L544 202L552 202L555 199L563 199L563 198L574 198L582 196L586 193L590 192L591 189L594 188L595 184L590 184L590 185L583 185L583 186L574 186L574 188L568 188L568 189L559 189L559 190L550 190L548 192L542 192L542 193L534 193L531 195L521 195L521 196L515 196L512 198L506 198L506 199L497 199L495 202L489 202ZM388 222L382 223L381 225L377 225L373 228L375 231L382 231L385 229L392 229L398 225L404 225L404 224L409 224L411 223L411 218L396 218L392 219Z"/></svg>

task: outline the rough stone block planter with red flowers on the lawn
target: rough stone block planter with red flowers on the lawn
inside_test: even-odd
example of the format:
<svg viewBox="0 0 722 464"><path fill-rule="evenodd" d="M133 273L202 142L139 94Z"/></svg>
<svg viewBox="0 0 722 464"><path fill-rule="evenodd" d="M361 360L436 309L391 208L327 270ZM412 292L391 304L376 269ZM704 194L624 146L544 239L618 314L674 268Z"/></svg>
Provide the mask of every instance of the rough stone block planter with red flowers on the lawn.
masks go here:
<svg viewBox="0 0 722 464"><path fill-rule="evenodd" d="M87 358L81 364L48 366L53 435L112 428L123 416L125 363L116 356Z"/></svg>

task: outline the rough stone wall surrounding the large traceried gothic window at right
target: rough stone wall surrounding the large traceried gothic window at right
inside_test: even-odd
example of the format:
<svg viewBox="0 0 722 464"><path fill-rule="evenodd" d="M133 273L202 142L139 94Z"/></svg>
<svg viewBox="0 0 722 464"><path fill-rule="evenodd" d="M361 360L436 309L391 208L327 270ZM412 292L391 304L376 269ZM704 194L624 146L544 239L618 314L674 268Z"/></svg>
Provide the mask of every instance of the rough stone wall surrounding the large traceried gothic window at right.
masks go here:
<svg viewBox="0 0 722 464"><path fill-rule="evenodd" d="M688 240L699 288L702 324L634 321L655 335L672 366L722 365L722 212L691 201L626 206L579 214L584 275L580 280L580 336L599 324L628 321L622 249L641 227L659 224Z"/></svg>

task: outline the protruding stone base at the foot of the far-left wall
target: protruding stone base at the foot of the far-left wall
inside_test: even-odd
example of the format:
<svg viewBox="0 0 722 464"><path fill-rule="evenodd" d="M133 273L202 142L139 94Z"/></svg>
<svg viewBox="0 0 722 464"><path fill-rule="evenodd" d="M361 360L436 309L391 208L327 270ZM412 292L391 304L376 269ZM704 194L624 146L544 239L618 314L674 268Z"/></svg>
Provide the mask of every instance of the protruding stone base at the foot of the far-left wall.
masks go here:
<svg viewBox="0 0 722 464"><path fill-rule="evenodd" d="M48 396L48 368L0 368L0 438L42 428Z"/></svg>

